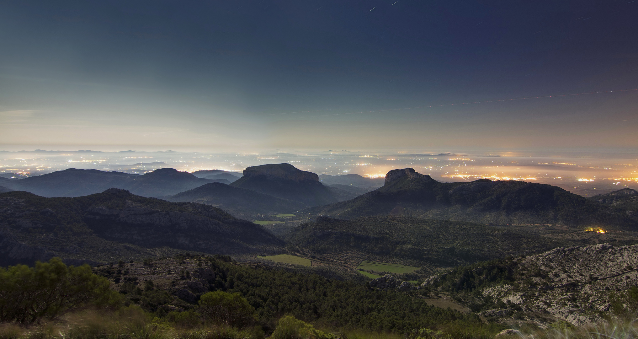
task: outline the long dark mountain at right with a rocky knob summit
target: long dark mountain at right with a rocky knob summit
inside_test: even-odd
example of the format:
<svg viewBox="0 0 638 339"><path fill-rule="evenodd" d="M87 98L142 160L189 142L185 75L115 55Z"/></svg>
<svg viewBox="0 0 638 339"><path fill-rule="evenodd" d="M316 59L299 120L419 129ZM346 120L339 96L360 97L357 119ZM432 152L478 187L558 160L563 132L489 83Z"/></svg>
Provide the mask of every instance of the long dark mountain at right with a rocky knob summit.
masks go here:
<svg viewBox="0 0 638 339"><path fill-rule="evenodd" d="M388 172L378 190L307 212L338 218L406 215L486 224L636 225L626 215L556 186L489 179L440 183L409 168Z"/></svg>

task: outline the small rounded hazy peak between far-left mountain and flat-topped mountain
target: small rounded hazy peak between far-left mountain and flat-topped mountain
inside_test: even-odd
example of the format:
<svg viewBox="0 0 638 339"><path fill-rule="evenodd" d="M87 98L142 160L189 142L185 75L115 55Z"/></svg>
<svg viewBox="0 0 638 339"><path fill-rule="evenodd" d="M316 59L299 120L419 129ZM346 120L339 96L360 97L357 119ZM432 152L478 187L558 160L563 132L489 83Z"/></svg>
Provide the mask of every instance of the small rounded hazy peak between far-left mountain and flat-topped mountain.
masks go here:
<svg viewBox="0 0 638 339"><path fill-rule="evenodd" d="M162 197L192 190L211 182L211 179L202 179L189 172L180 172L176 169L156 169L144 174L144 176L135 177L126 185L118 186L118 188L124 188L143 197Z"/></svg>

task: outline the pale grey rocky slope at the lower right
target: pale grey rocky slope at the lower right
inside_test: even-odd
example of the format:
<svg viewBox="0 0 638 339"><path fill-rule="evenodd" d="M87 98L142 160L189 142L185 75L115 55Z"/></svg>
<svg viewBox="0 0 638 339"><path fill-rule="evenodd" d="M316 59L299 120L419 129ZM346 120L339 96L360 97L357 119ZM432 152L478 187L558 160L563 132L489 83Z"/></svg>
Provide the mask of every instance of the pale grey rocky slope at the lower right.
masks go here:
<svg viewBox="0 0 638 339"><path fill-rule="evenodd" d="M614 304L630 309L627 291L638 285L635 267L638 245L572 246L517 259L512 266L514 281L480 290L486 303L482 314L593 324L613 315ZM432 276L420 287L436 286L444 275Z"/></svg>

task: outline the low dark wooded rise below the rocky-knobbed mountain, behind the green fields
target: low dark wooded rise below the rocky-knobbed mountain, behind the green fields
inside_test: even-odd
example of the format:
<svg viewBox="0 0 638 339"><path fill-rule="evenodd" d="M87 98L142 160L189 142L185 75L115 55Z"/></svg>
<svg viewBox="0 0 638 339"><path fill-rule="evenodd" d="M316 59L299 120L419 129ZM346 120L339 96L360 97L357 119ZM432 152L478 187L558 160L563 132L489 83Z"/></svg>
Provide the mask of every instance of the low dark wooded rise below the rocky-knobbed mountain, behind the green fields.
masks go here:
<svg viewBox="0 0 638 339"><path fill-rule="evenodd" d="M367 216L350 220L325 216L290 231L288 248L316 253L359 252L394 259L416 260L426 266L451 267L507 255L531 255L556 248L595 244L595 232L487 226L405 216ZM613 239L620 245L627 241ZM429 264L428 264L429 263Z"/></svg>

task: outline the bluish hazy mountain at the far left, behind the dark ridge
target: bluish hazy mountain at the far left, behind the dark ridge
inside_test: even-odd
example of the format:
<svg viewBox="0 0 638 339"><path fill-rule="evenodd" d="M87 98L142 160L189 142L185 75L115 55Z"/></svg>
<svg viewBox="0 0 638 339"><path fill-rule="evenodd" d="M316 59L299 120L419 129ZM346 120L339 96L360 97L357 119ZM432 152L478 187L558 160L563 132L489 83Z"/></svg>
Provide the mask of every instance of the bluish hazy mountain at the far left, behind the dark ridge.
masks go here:
<svg viewBox="0 0 638 339"><path fill-rule="evenodd" d="M16 181L3 181L3 186L43 197L80 197L102 192L107 188L125 186L136 177L141 176L71 168Z"/></svg>

